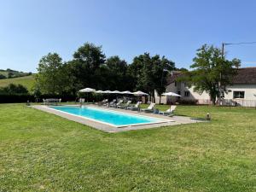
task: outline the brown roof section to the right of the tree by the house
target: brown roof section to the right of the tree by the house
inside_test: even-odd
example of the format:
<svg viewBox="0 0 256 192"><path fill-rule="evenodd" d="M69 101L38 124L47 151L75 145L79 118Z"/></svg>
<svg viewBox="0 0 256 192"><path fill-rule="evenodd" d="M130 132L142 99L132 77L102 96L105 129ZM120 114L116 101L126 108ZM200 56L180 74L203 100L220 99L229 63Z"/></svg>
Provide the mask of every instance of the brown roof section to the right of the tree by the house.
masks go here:
<svg viewBox="0 0 256 192"><path fill-rule="evenodd" d="M256 67L238 69L233 84L256 84Z"/></svg>

